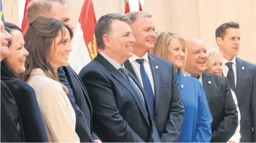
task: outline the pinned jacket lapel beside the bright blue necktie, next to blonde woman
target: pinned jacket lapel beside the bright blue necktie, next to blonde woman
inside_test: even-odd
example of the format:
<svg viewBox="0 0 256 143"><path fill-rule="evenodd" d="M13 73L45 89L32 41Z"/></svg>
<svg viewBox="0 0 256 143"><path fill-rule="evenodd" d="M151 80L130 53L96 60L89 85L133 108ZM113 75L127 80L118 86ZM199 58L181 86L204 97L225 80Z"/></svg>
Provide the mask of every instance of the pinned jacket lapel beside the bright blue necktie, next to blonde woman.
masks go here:
<svg viewBox="0 0 256 143"><path fill-rule="evenodd" d="M160 96L160 67L156 62L156 59L151 56L151 54L148 54L149 64L152 71L152 76L154 79L154 97L155 97L155 112L158 111L158 105L159 105L159 96ZM158 67L158 68L156 68ZM155 118L156 119L156 118Z"/></svg>

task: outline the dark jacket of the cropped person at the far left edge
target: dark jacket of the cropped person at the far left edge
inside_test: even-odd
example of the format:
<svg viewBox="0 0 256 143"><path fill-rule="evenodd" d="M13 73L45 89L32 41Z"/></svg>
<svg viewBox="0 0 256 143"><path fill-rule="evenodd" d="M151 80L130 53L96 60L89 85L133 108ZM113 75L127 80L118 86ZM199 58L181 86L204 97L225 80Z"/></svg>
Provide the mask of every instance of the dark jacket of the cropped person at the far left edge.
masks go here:
<svg viewBox="0 0 256 143"><path fill-rule="evenodd" d="M1 142L25 142L17 103L1 80Z"/></svg>

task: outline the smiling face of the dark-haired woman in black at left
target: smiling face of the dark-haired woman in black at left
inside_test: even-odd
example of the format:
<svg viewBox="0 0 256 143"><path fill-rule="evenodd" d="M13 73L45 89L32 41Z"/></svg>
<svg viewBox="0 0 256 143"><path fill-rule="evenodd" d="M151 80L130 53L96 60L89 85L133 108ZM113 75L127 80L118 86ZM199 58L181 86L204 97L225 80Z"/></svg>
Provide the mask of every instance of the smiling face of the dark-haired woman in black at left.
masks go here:
<svg viewBox="0 0 256 143"><path fill-rule="evenodd" d="M10 55L6 58L9 67L15 73L23 73L25 68L26 56L28 56L28 51L24 48L23 34L18 30L12 30L10 32L12 35L12 43L10 44Z"/></svg>

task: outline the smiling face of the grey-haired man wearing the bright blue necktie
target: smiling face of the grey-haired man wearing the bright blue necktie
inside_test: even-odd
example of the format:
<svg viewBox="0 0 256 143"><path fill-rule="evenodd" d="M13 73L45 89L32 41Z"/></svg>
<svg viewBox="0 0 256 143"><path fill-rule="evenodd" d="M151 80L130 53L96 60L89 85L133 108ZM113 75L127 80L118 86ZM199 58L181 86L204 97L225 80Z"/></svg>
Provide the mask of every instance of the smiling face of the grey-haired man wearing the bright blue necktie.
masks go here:
<svg viewBox="0 0 256 143"><path fill-rule="evenodd" d="M146 53L154 48L154 40L156 39L155 26L152 18L149 16L138 15L136 20L130 24L134 38L134 51Z"/></svg>

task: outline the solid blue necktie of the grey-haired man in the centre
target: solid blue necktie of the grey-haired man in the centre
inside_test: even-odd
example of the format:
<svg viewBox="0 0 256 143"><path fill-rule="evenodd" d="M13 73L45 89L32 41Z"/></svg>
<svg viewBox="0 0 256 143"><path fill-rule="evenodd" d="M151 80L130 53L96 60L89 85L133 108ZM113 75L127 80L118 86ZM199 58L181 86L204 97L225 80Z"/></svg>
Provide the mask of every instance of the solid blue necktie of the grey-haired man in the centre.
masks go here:
<svg viewBox="0 0 256 143"><path fill-rule="evenodd" d="M143 82L143 88L146 92L146 100L148 100L151 117L154 119L154 94L148 75L146 74L145 67L143 65L144 59L137 59L136 61L138 64L140 64L140 74Z"/></svg>

